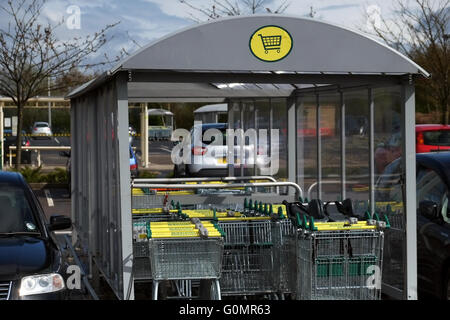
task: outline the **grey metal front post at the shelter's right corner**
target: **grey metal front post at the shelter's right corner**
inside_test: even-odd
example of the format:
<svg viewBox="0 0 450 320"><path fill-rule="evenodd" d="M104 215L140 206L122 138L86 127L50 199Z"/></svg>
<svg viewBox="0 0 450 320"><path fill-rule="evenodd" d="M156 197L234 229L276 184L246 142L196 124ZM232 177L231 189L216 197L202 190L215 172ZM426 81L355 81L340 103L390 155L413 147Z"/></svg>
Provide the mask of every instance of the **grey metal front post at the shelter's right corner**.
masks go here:
<svg viewBox="0 0 450 320"><path fill-rule="evenodd" d="M402 87L403 167L405 168L406 298L417 300L415 90L412 79Z"/></svg>

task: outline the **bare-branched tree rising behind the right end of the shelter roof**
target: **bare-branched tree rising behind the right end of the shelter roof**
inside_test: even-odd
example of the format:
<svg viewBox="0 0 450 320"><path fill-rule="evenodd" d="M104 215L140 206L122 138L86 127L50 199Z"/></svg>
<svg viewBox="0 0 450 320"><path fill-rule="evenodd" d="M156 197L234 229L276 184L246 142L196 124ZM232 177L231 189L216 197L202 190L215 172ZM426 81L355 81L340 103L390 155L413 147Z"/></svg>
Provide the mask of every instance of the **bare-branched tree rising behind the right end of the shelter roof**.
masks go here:
<svg viewBox="0 0 450 320"><path fill-rule="evenodd" d="M399 50L431 73L431 79L419 80L425 93L441 112L441 122L450 115L450 0L396 0L395 16L372 19L373 35ZM376 21L378 20L378 21Z"/></svg>

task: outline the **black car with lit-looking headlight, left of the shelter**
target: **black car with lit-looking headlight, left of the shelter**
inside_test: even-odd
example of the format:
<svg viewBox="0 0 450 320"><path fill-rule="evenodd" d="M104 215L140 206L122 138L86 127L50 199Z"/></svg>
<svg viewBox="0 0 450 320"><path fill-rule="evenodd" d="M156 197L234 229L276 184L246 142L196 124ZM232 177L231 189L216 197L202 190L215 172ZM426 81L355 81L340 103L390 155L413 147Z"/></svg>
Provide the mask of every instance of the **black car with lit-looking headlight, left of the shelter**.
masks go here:
<svg viewBox="0 0 450 320"><path fill-rule="evenodd" d="M70 218L44 211L20 173L0 172L0 300L62 299L65 255L52 233Z"/></svg>

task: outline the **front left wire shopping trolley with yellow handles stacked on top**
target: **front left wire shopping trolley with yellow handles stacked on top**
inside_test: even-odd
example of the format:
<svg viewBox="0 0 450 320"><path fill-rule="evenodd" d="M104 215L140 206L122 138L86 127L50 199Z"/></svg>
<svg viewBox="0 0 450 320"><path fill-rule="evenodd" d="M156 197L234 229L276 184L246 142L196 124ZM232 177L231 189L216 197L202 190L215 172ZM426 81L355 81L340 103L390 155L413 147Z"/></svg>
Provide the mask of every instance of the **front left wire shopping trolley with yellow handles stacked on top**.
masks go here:
<svg viewBox="0 0 450 320"><path fill-rule="evenodd" d="M220 299L222 233L211 222L201 222L204 238L190 221L149 223L149 258L153 280L153 299L161 281L183 284L189 280L212 280L211 299Z"/></svg>

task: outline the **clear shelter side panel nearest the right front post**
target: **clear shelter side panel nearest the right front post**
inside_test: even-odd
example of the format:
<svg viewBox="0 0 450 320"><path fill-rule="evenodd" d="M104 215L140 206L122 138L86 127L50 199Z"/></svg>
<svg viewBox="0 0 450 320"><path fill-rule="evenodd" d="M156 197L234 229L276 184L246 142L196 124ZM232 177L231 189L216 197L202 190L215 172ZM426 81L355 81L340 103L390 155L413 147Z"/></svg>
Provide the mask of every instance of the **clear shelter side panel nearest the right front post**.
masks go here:
<svg viewBox="0 0 450 320"><path fill-rule="evenodd" d="M386 214L383 283L403 290L405 270L404 168L402 168L401 88L373 89L375 207Z"/></svg>

